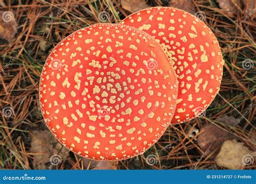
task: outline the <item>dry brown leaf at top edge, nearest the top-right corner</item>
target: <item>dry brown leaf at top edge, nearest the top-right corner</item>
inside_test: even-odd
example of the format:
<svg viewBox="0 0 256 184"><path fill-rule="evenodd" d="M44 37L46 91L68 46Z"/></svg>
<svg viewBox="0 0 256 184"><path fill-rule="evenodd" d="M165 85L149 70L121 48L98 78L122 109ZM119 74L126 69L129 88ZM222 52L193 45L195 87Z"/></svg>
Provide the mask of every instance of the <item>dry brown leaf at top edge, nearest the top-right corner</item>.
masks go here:
<svg viewBox="0 0 256 184"><path fill-rule="evenodd" d="M227 13L228 16L233 17L237 14L237 6L241 6L240 0L217 0L220 8Z"/></svg>

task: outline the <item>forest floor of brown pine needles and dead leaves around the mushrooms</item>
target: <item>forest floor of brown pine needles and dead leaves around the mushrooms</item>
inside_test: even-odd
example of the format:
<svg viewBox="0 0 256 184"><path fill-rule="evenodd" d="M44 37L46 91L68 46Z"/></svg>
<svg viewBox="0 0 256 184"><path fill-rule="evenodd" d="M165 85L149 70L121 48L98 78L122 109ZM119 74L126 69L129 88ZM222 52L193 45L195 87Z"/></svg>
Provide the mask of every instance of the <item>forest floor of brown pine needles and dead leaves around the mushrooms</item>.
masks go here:
<svg viewBox="0 0 256 184"><path fill-rule="evenodd" d="M0 1L1 17L4 12L13 16L10 22L0 18L0 168L255 169L253 5L245 0ZM72 32L100 22L119 23L150 6L186 10L210 27L225 60L220 91L202 116L170 125L142 155L119 162L79 157L58 143L41 115L38 85L45 60ZM54 159L60 161L52 164Z"/></svg>

